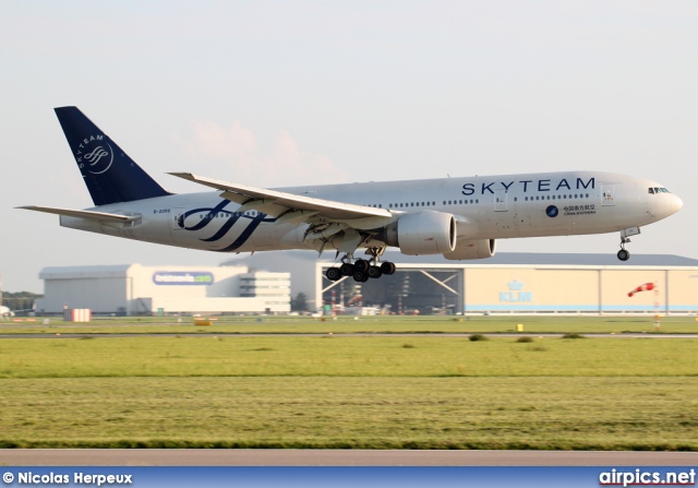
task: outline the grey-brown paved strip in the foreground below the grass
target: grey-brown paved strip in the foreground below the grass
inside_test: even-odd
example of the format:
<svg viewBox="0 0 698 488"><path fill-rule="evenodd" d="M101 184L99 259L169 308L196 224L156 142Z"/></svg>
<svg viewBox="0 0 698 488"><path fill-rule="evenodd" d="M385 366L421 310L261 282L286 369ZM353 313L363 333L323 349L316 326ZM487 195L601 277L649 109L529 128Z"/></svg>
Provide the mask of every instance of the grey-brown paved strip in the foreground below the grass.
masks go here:
<svg viewBox="0 0 698 488"><path fill-rule="evenodd" d="M5 466L696 466L698 452L3 449Z"/></svg>

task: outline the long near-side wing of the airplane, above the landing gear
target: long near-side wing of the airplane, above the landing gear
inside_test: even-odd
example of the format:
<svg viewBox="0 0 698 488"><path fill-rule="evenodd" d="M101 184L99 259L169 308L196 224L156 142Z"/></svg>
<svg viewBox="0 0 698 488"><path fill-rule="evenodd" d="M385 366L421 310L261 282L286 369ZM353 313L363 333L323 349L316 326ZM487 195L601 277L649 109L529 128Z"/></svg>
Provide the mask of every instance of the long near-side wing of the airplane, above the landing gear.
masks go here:
<svg viewBox="0 0 698 488"><path fill-rule="evenodd" d="M392 217L393 214L386 209L374 209L371 206L354 205L352 203L335 202L332 200L315 199L282 191L267 190L264 188L248 187L227 181L215 180L191 172L170 172L172 176L194 181L206 187L221 190L221 197L242 205L257 206L258 209L275 209L273 216L279 216L287 211L311 211L328 219L352 219L364 217ZM265 212L266 213L266 212Z"/></svg>

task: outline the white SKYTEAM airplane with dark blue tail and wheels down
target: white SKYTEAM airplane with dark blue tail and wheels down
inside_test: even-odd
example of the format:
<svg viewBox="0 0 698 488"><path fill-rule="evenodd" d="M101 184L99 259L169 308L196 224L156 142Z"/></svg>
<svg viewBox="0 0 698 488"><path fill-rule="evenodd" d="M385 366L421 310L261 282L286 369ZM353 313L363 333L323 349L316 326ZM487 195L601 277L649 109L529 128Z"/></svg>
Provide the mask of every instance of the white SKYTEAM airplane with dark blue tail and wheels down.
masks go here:
<svg viewBox="0 0 698 488"><path fill-rule="evenodd" d="M381 259L388 247L471 260L522 237L618 231L617 258L627 261L640 227L683 206L655 181L590 170L281 189L170 172L215 190L173 194L80 109L55 111L94 206L19 209L58 214L63 227L216 252L334 250L332 282L392 275L395 263Z"/></svg>

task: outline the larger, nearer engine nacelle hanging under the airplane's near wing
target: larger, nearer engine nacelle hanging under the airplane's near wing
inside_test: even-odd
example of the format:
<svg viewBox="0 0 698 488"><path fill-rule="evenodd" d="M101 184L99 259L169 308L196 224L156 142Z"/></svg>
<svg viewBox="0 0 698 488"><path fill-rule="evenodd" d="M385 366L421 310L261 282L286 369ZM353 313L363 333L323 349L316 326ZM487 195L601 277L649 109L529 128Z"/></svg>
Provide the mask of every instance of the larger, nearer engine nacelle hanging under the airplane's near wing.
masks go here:
<svg viewBox="0 0 698 488"><path fill-rule="evenodd" d="M443 212L402 215L385 229L385 243L402 254L443 254L456 249L456 217Z"/></svg>

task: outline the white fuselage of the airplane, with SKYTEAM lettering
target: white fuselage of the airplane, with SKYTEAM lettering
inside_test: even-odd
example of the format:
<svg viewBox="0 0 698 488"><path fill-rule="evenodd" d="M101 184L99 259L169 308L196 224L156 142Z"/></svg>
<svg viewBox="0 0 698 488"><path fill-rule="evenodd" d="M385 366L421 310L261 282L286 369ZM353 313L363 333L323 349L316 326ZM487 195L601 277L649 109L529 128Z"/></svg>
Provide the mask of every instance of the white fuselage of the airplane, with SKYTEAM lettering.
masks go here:
<svg viewBox="0 0 698 488"><path fill-rule="evenodd" d="M424 211L453 214L457 219L459 241L612 233L651 224L682 206L677 197L657 182L598 171L281 190L315 199L387 209L396 219ZM277 223L276 218L253 210L237 212L239 207L237 203L222 199L219 191L174 194L97 209L140 216L125 226L70 216L61 216L61 225L219 252L318 249L317 242L305 238L308 224ZM366 222L364 228L371 228L371 223Z"/></svg>

